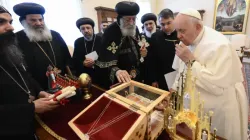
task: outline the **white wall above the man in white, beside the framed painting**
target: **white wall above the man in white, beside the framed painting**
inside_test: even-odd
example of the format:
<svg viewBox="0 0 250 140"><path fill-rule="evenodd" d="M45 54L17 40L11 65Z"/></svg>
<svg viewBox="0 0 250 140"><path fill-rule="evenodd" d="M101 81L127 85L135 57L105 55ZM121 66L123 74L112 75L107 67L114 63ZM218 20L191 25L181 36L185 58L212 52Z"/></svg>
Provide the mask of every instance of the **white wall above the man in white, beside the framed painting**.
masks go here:
<svg viewBox="0 0 250 140"><path fill-rule="evenodd" d="M179 12L185 8L204 9L204 24L213 27L215 0L157 0L158 13L164 8L169 8L173 12ZM250 36L250 16L247 23L246 34Z"/></svg>

